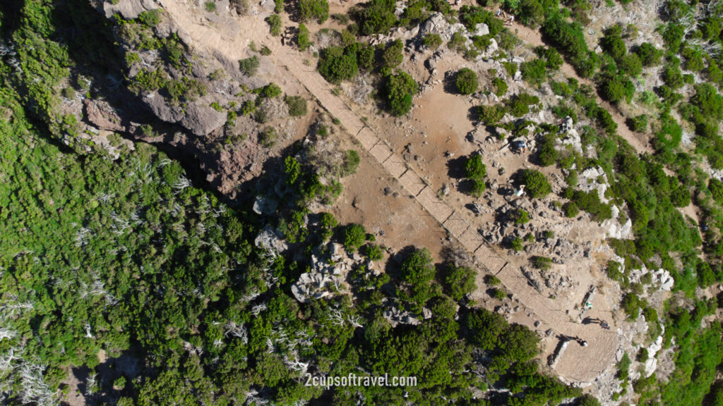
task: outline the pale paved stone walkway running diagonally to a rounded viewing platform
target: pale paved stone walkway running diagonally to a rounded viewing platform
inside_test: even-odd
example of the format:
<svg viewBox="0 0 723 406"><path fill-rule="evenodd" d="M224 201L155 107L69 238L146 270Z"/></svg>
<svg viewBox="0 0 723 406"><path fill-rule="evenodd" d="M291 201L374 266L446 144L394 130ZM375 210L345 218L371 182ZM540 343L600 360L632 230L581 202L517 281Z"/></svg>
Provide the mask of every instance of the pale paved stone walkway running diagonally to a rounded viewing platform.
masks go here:
<svg viewBox="0 0 723 406"><path fill-rule="evenodd" d="M497 275L513 293L513 298L540 322L537 329L553 329L557 334L586 340L589 343L587 347L580 347L575 342L568 345L555 366L555 371L560 376L568 381L592 381L610 365L619 340L615 330L604 331L596 324L576 323L576 315L566 314L565 309L559 308L554 299L544 297L532 288L520 269L509 264L500 252L483 241L476 228L470 225L467 213L455 210L448 202L440 199L416 170L409 168L402 157L393 152L388 142L377 137L376 131L365 125L351 106L335 95L313 65L305 64L299 52L282 46L278 38L270 36L268 25L260 16L236 18L240 30L224 30L224 27L229 25L210 24L205 20L204 12L184 4L182 0L160 0L158 4L182 27L179 36L191 46L221 53L231 60L246 57L247 47L252 40L258 46L268 46L272 51L270 59L280 67L282 74L286 72L288 82L297 82L306 87L331 116L341 121L341 125L359 141L369 155L381 163L408 194L414 196L424 210L473 253L490 273ZM612 324L612 319L610 322ZM615 326L612 328L615 329Z"/></svg>

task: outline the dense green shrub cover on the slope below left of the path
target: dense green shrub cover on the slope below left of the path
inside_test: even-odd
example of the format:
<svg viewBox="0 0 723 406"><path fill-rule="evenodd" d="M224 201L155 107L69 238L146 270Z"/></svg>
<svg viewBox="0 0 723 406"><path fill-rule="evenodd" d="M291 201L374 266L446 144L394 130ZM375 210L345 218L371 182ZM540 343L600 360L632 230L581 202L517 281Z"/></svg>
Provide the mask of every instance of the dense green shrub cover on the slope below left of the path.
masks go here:
<svg viewBox="0 0 723 406"><path fill-rule="evenodd" d="M66 49L50 38L51 15L61 6L24 7L27 19L17 22L22 28L13 41L35 38L36 51L23 54L24 63L39 67L43 58L48 69L59 61L71 66ZM96 15L87 5L81 10L90 14L80 16ZM155 24L155 17L144 18ZM48 49L52 56L43 53ZM254 65L252 58L239 67L252 74ZM443 405L447 399L485 405L473 388L493 385L510 387L501 395L510 404L581 394L537 371L530 360L539 339L526 327L497 320L487 334L499 344L480 347L470 327L486 322L474 317L484 311L462 306L461 314L476 321L455 320L455 302L464 305L475 288L474 269L437 267L426 249L398 254L400 262L390 264L398 270L389 272L393 278L356 264L353 295L333 292L309 303L291 296L312 254L330 262L330 241L361 246L369 259L384 256L379 246L363 245L374 238L360 225L340 227L329 213L309 211L338 196L335 178L354 173L355 151L325 168L301 142L289 146L278 170L254 181L265 193L271 193L265 185L278 184L283 202L273 215L256 215L251 202L230 207L194 187L179 162L150 145L116 144L113 159L102 148L80 154L56 142L57 85L69 74L56 69L46 87L31 92L22 84L33 76L0 64L0 355L7 360L0 391L11 404L56 404L77 390L67 386L70 374L81 379L88 403L113 399L117 405L356 405L359 397L370 405ZM416 90L411 77L395 77L399 83L391 87L401 99ZM254 92L257 100L242 108L247 113L258 100L283 95L274 84ZM33 108L40 100L44 110ZM284 100L294 114L306 110L303 99ZM144 128L153 131L150 124ZM273 142L272 130L260 132L263 142ZM267 226L291 244L288 251L257 245ZM446 269L445 276L437 277L437 269ZM394 289L380 289L386 284ZM388 306L382 299L414 313L431 308L433 316L391 327L381 316ZM486 355L476 360L475 351ZM388 373L416 376L419 384L312 387L304 385L307 372Z"/></svg>

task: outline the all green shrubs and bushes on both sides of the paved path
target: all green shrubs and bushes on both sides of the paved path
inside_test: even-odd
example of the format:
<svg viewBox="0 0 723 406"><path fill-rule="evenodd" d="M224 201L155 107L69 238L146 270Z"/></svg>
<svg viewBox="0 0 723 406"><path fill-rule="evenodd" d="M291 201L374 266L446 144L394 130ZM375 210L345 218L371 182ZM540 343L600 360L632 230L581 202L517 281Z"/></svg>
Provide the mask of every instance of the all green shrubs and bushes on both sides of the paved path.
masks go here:
<svg viewBox="0 0 723 406"><path fill-rule="evenodd" d="M653 375L632 382L639 405L698 405L703 399L715 404L723 397L723 385L715 383L723 356L721 327L717 321L701 327L718 303L701 299L697 290L723 280L723 183L701 170L705 165L723 168L723 73L719 56L711 51L722 41L723 9L703 1L705 7L694 12L697 3L667 1L667 21L659 27L665 49L634 43L635 27L614 25L600 38L598 55L585 42L587 1L563 1L562 6L557 1L503 2L518 21L541 25L545 39L555 47L536 48L536 58L521 64L506 62L508 75L519 69L530 85L542 85L560 68L562 54L581 76L594 79L595 87L573 79L550 82L562 99L552 107L553 113L589 124L581 131L581 142L593 147L594 155L555 150L557 128L550 124L500 124L505 113L521 118L541 108L534 95L515 90L502 103L477 110L484 124L500 125L515 137L539 136L539 161L533 162L565 170L569 187L555 196L561 199L555 204L562 203L564 215L576 217L582 210L603 221L612 218L615 205L621 223L630 218L634 239L609 241L623 263L612 262L607 272L624 290L621 304L630 319L643 316L649 321L649 338L662 331L657 321L664 324L664 347L675 346L676 366L665 381ZM215 12L213 2L203 5ZM233 5L241 13L248 7L245 1ZM439 11L469 30L480 22L489 26L489 35L471 38L469 48L461 35L452 38L448 46L467 59L484 51L491 38L503 52L515 44L501 20L482 7L463 6L455 13L445 1L412 1L406 6L399 18L395 3L388 0L372 0L352 10L354 23L339 34L341 46L320 51L320 73L335 84L353 79L360 69L379 74L375 96L380 108L403 116L417 91L413 77L395 70L404 59L403 43L374 48L357 43L355 35L386 34L394 26L416 25L429 12ZM283 1L275 1L275 12L283 8ZM486 405L474 397L472 388L476 393L489 386L511 391L496 395L495 404L556 404L579 396L576 389L537 371L532 358L539 339L533 332L467 302L476 288L476 270L450 262L435 264L425 249L393 254L381 275L356 264L350 271L353 295L334 292L309 303L291 296L291 285L311 266L311 254L332 262L327 246L331 241L372 261L385 257L385 248L372 243L374 236L361 225L339 226L328 213L309 210L312 203L330 204L341 193L338 177L354 173L358 153L344 152L341 163L325 169L334 175L322 182L324 170L307 159L312 151L294 144L283 152L278 171L265 175L272 178L255 180L288 189L273 216L252 214L249 202L228 207L214 194L194 188L181 165L153 147L137 144L128 151L115 142L120 156L111 160L89 141L92 136L79 133L80 117L64 113L60 97L102 98L107 89L95 84L106 77L124 77L119 66L140 61L134 52L120 59L114 54L118 47L108 29L111 22L80 0L26 1L0 10L3 46L13 52L4 53L0 64L0 311L7 329L7 337L0 340L0 359L9 359L9 369L2 372L10 371L0 377L0 390L14 391L9 402L52 403L56 389L64 388L73 373L69 371L92 375L108 369L115 372L89 381L88 392L94 399L118 399L119 405L292 405L309 399L335 405L354 405L359 399L378 405ZM328 3L302 0L299 13L301 21L324 22ZM688 22L693 14L699 17L696 25ZM349 17L343 17L335 20L346 25ZM127 86L136 95L158 90L182 107L210 90L184 77L192 61L177 36L153 36L151 28L162 20L161 12L144 12L134 21L115 19L117 38L159 55L158 64L116 86ZM281 17L273 14L267 21L270 32L281 35ZM310 37L307 27L299 25L299 48L307 49ZM424 44L437 48L442 40L429 35ZM636 84L644 85L644 69L661 64L664 85L655 92L636 90ZM247 76L256 74L258 66L257 56L239 62ZM459 92L477 91L473 75L458 74ZM91 87L90 82L95 84ZM489 91L500 97L508 90L500 77L490 85ZM265 123L265 113L257 107L283 92L273 84L254 92L257 100L247 100L239 113L253 113ZM628 117L625 124L641 134L651 131L654 153L639 156L617 136L617 124L596 103L594 92L617 105L636 100L647 109ZM283 100L291 116L307 114L303 98ZM212 106L223 110L218 103ZM530 125L534 130L527 129ZM696 133L692 147L680 145L684 129ZM109 139L119 138L114 134ZM278 132L262 127L259 139L270 147L278 141ZM608 203L597 191L576 189L577 173L591 167L604 170L610 185ZM470 157L465 171L471 193L479 196L485 176L479 155ZM547 178L537 170L521 170L515 181L526 185L533 198L552 194ZM691 203L698 209L697 224L677 210ZM518 225L530 220L523 210L511 214ZM287 252L255 246L254 238L266 225L291 244ZM523 248L521 238L512 245ZM542 256L532 259L539 269L549 268L551 262ZM675 301L656 309L641 298L651 285L631 282L630 274L643 264L665 269L675 278ZM502 288L494 295L507 297ZM388 303L416 316L428 308L432 317L416 326L391 327L382 316ZM101 350L110 357L106 363L111 368L97 368ZM116 368L121 355L138 363L133 376ZM633 358L643 360L646 354ZM630 358L625 362L629 366ZM627 382L625 362L621 361L620 379ZM303 384L306 371L344 375L359 368L365 373L419 376L422 384L358 391ZM596 401L580 397L576 404Z"/></svg>

